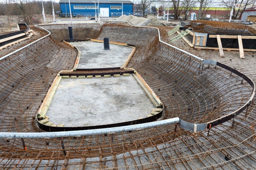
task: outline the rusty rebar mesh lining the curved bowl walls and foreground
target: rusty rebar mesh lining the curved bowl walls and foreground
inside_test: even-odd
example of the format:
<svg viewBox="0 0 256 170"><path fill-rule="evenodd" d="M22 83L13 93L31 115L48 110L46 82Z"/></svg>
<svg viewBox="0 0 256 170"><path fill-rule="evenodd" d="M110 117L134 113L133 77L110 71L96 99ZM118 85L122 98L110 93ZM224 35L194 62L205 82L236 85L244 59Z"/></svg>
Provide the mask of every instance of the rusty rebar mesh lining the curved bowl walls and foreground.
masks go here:
<svg viewBox="0 0 256 170"><path fill-rule="evenodd" d="M61 40L58 31L62 29L58 28L61 27L51 26L56 29L55 40ZM82 25L73 25L73 29L80 30ZM161 37L167 39L164 31L160 28ZM160 44L154 28L103 25L96 35L93 38L102 40L108 36L114 42L136 45L128 67L136 69L161 98L164 119L178 116L188 122L208 122L248 101L251 88L245 82L241 84L242 78L230 76L219 67L202 69L200 61ZM246 56L251 52L245 52L245 60L233 51L222 59L216 57L218 51L199 51L183 43L179 40L175 46L199 57L223 60L255 80L255 60ZM33 45L19 58L11 56L1 62L1 74L5 76L1 79L1 131L40 132L32 118L56 74L71 69L75 62L73 48L50 38L38 45L40 51L35 51ZM20 139L0 139L0 165L2 169L254 169L255 104L253 101L234 121L196 134L178 127L174 132L175 125L165 125L107 136L24 139L26 151Z"/></svg>

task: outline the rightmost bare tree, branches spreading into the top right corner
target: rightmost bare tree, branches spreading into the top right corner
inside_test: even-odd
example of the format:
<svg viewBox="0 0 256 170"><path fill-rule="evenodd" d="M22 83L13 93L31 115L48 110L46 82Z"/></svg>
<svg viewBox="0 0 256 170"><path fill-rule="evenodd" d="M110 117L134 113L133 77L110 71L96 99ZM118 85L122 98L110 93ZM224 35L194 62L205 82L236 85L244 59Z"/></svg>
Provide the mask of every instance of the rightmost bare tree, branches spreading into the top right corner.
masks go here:
<svg viewBox="0 0 256 170"><path fill-rule="evenodd" d="M233 7L233 0L221 0L220 3L221 6L228 7L230 9L233 7L232 19L237 19L239 14L242 15L246 9L253 7L254 4L256 4L256 0L235 0L235 4L239 8Z"/></svg>

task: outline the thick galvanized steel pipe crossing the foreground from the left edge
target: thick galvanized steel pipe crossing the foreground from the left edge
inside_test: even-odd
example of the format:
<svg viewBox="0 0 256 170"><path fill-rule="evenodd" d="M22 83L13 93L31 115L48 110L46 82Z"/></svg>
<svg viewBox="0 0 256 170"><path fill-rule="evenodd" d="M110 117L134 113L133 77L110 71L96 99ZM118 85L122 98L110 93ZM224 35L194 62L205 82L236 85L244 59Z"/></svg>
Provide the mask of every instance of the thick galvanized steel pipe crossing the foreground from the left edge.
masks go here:
<svg viewBox="0 0 256 170"><path fill-rule="evenodd" d="M178 117L172 119L165 119L156 122L148 122L137 125L120 126L114 128L103 129L90 129L90 130L75 130L75 131L63 131L63 132L41 132L41 133L16 133L16 132L0 132L0 138L56 138L56 137L71 137L71 136L86 136L86 135L99 135L108 133L119 133L130 130L139 130L152 128L157 126L163 126L173 123L179 123Z"/></svg>

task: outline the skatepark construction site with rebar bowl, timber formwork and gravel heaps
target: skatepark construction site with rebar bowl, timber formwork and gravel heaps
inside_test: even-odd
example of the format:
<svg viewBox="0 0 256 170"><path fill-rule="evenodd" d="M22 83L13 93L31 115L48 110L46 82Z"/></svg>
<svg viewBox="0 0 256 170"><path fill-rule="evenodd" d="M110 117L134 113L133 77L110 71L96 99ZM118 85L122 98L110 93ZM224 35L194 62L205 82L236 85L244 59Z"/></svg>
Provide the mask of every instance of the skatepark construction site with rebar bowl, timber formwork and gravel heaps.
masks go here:
<svg viewBox="0 0 256 170"><path fill-rule="evenodd" d="M255 169L253 28L18 26L0 34L0 169Z"/></svg>

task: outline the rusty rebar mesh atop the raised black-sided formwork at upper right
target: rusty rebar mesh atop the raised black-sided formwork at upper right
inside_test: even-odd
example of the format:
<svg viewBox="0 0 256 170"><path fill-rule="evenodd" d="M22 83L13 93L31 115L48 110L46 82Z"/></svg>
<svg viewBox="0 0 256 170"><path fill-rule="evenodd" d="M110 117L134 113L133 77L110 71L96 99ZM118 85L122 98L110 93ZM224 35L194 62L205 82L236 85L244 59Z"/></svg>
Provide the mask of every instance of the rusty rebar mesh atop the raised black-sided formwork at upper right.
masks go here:
<svg viewBox="0 0 256 170"><path fill-rule="evenodd" d="M195 30L204 31L209 34L254 34L256 30L235 22L221 21L191 21L190 26Z"/></svg>

